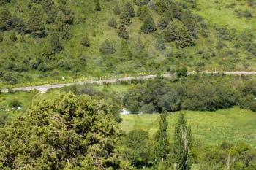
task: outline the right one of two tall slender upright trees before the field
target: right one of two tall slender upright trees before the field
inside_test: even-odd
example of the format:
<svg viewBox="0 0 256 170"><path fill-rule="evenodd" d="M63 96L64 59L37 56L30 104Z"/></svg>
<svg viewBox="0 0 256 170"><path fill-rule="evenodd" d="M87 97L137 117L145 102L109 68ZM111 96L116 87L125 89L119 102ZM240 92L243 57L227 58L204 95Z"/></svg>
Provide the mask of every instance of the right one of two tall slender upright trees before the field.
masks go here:
<svg viewBox="0 0 256 170"><path fill-rule="evenodd" d="M174 131L173 156L177 170L190 169L189 152L192 147L192 131L184 115L179 115Z"/></svg>

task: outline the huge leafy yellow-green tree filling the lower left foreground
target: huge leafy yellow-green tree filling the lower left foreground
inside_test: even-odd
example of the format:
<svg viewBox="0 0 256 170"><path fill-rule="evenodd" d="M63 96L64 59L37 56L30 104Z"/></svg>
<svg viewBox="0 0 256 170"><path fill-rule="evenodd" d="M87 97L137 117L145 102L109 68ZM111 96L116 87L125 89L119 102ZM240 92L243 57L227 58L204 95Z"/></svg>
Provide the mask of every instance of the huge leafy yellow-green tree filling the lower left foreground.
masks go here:
<svg viewBox="0 0 256 170"><path fill-rule="evenodd" d="M0 169L120 167L113 114L107 104L89 96L67 93L54 101L37 101L26 117L0 131Z"/></svg>

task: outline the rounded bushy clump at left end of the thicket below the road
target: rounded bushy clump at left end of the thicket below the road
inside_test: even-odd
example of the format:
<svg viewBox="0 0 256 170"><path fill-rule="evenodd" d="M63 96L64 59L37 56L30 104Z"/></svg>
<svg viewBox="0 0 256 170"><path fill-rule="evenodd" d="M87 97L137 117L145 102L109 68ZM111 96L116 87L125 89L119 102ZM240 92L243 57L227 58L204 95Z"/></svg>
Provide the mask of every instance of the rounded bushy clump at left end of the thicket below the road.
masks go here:
<svg viewBox="0 0 256 170"><path fill-rule="evenodd" d="M179 109L181 96L165 82L154 80L130 89L124 104L131 112L171 112Z"/></svg>

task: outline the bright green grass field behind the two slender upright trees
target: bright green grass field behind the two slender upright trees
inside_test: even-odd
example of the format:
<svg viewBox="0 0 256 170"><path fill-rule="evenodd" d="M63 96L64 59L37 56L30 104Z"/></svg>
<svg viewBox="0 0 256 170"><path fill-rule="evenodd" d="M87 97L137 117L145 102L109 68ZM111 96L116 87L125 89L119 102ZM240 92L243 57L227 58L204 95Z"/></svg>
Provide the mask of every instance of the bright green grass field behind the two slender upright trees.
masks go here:
<svg viewBox="0 0 256 170"><path fill-rule="evenodd" d="M175 112L168 116L170 139L179 113L184 113L187 123L192 127L193 136L204 144L219 144L222 141L247 142L256 147L256 112L238 107L217 112ZM121 118L121 129L125 132L143 129L153 135L158 128L157 114L123 115Z"/></svg>

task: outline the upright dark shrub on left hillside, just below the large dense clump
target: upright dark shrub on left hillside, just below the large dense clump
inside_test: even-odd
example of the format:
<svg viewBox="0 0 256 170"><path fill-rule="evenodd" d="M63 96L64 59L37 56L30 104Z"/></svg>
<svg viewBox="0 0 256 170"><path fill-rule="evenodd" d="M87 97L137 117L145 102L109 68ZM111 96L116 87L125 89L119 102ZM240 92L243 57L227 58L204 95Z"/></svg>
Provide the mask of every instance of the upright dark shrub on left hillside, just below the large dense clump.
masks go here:
<svg viewBox="0 0 256 170"><path fill-rule="evenodd" d="M45 47L42 51L42 57L45 59L52 59L53 55L59 53L59 51L62 49L63 47L59 40L59 35L53 33L50 37L48 37L48 40L45 43Z"/></svg>

